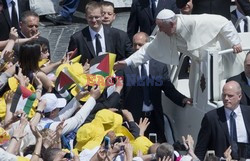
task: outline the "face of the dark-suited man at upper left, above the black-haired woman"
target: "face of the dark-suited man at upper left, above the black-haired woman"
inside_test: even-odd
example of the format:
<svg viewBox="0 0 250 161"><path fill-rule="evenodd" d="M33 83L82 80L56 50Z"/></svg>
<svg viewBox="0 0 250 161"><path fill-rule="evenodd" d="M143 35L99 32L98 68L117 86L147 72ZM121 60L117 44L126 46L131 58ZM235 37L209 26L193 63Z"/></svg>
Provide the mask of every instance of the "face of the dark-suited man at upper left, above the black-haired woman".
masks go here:
<svg viewBox="0 0 250 161"><path fill-rule="evenodd" d="M30 38L38 33L39 17L29 16L20 22L20 28L25 37Z"/></svg>

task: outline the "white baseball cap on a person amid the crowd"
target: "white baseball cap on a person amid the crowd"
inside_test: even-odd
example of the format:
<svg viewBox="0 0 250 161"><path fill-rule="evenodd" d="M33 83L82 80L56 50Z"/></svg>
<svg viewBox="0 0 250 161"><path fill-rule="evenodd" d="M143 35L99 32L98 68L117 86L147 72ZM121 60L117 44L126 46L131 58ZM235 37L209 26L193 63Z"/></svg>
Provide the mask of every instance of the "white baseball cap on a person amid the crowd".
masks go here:
<svg viewBox="0 0 250 161"><path fill-rule="evenodd" d="M44 113L51 112L56 108L65 107L67 104L66 99L57 98L54 93L46 93L41 97L41 99L46 100L46 107L44 109Z"/></svg>

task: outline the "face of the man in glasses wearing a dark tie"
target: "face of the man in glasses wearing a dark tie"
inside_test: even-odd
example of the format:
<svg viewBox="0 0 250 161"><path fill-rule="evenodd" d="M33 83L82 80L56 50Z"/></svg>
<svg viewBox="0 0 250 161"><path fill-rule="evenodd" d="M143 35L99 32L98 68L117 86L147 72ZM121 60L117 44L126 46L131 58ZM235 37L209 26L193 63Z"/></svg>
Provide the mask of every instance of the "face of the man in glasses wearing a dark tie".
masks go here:
<svg viewBox="0 0 250 161"><path fill-rule="evenodd" d="M101 8L95 8L93 10L88 10L86 13L88 25L92 30L98 32L102 24L102 12Z"/></svg>

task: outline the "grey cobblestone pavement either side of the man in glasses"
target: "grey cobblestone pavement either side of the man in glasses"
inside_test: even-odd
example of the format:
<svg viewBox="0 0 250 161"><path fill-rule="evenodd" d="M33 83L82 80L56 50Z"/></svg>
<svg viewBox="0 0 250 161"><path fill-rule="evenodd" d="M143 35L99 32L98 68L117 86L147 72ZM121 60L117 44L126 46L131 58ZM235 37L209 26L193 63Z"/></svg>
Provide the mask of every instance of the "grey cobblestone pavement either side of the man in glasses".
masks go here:
<svg viewBox="0 0 250 161"><path fill-rule="evenodd" d="M75 16L84 17L83 13L80 12L77 12ZM129 12L117 13L113 26L126 31L128 17ZM53 62L60 60L67 52L70 36L87 26L87 24L79 21L84 22L84 19L78 20L76 23L73 22L71 25L60 26L53 26L51 23L42 21L45 26L40 26L39 30L41 36L47 38L50 42L50 54Z"/></svg>

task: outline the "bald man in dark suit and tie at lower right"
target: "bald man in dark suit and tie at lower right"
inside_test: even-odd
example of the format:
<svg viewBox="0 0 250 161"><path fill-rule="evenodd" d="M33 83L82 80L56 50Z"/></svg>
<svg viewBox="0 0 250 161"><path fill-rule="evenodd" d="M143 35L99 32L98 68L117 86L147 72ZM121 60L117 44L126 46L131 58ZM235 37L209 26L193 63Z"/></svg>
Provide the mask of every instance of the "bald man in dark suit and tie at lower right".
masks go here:
<svg viewBox="0 0 250 161"><path fill-rule="evenodd" d="M207 150L223 157L229 146L232 158L239 160L237 142L249 143L250 108L239 104L240 85L235 81L227 82L222 92L223 107L205 114L195 148L195 154L203 160Z"/></svg>

